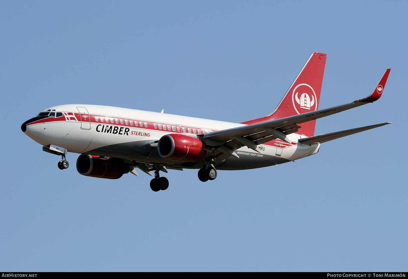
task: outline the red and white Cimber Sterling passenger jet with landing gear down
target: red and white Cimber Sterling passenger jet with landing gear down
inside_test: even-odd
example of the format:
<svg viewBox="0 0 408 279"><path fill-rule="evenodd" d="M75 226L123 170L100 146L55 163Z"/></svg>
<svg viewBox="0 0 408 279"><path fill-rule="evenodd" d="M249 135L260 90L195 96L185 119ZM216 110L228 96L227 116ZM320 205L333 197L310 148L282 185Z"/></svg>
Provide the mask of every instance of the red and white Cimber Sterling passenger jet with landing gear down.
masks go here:
<svg viewBox="0 0 408 279"><path fill-rule="evenodd" d="M154 176L151 190L169 187L160 171L198 169L206 182L217 170L247 170L295 161L320 150L320 144L390 124L380 123L329 134L314 135L316 119L373 103L381 97L390 69L371 94L351 103L319 109L326 54L314 52L268 116L230 123L162 112L102 105L58 105L25 121L22 132L42 150L62 156L80 153L78 172L85 176L119 179L138 176L135 168ZM153 174L154 172L154 174Z"/></svg>

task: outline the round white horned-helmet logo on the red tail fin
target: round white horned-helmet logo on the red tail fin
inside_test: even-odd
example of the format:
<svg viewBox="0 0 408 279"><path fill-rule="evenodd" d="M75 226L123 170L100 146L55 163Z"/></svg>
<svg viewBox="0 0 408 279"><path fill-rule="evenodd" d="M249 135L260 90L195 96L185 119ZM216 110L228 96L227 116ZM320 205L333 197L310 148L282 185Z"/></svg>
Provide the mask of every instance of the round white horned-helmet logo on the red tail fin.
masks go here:
<svg viewBox="0 0 408 279"><path fill-rule="evenodd" d="M317 109L317 98L313 88L306 84L301 83L293 89L292 103L297 114L301 114L310 110Z"/></svg>

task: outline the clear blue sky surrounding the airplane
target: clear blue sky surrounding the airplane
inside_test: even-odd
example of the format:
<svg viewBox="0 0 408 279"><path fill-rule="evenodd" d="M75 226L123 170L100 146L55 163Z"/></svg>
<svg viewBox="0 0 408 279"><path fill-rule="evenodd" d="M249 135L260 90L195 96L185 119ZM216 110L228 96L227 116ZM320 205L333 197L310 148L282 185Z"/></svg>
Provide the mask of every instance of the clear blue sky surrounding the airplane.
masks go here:
<svg viewBox="0 0 408 279"><path fill-rule="evenodd" d="M406 271L403 1L0 3L0 270ZM279 166L85 177L20 125L53 105L113 105L243 122L270 114L327 54L315 134L383 122ZM404 85L404 86L403 86Z"/></svg>

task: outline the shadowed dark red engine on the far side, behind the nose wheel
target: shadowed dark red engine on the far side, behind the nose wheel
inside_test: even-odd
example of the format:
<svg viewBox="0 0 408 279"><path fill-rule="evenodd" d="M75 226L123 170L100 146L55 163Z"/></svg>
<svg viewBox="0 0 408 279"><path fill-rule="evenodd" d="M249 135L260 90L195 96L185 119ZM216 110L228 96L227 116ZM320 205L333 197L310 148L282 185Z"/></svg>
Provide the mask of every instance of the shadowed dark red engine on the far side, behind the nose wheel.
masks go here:
<svg viewBox="0 0 408 279"><path fill-rule="evenodd" d="M97 157L81 154L77 159L77 170L85 176L118 179L129 172L129 166L119 158Z"/></svg>

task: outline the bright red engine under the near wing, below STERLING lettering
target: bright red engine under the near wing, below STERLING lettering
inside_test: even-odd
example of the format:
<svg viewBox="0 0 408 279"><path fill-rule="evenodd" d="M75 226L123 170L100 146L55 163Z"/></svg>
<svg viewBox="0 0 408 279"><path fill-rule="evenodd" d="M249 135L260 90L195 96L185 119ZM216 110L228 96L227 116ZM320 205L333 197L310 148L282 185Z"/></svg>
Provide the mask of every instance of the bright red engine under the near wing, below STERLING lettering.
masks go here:
<svg viewBox="0 0 408 279"><path fill-rule="evenodd" d="M208 154L204 141L183 134L162 136L157 144L157 151L162 158L189 162L201 161Z"/></svg>

